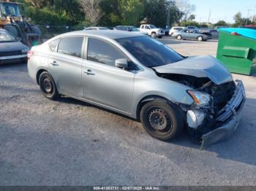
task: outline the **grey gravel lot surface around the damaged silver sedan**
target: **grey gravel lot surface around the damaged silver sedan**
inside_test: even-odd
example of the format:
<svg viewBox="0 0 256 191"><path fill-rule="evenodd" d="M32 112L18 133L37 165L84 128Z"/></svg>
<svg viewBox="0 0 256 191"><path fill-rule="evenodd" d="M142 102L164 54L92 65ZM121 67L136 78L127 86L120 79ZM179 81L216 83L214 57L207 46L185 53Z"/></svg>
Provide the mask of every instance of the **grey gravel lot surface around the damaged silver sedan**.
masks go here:
<svg viewBox="0 0 256 191"><path fill-rule="evenodd" d="M217 42L161 39L184 55ZM256 185L256 79L236 133L201 151L186 133L152 139L140 123L72 98L49 101L26 64L0 66L1 185Z"/></svg>

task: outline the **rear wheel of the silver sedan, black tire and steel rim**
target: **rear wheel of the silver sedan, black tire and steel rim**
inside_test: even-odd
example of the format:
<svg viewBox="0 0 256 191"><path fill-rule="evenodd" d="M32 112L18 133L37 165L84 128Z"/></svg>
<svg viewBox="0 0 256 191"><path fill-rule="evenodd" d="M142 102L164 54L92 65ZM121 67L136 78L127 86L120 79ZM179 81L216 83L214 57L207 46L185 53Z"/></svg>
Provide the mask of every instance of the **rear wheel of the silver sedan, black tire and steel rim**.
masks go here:
<svg viewBox="0 0 256 191"><path fill-rule="evenodd" d="M38 81L42 95L44 95L45 98L50 100L56 100L59 98L59 92L53 77L47 71L44 71L42 74L40 74Z"/></svg>

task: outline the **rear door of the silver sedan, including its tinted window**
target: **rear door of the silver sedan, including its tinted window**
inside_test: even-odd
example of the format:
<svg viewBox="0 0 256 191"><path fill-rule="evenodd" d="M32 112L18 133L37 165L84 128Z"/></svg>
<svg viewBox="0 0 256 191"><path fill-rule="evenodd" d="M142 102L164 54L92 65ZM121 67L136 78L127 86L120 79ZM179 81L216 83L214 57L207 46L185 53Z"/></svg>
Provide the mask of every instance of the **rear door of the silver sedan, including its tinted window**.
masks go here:
<svg viewBox="0 0 256 191"><path fill-rule="evenodd" d="M59 93L83 96L81 85L83 36L67 36L60 39L56 50L48 58L50 74Z"/></svg>

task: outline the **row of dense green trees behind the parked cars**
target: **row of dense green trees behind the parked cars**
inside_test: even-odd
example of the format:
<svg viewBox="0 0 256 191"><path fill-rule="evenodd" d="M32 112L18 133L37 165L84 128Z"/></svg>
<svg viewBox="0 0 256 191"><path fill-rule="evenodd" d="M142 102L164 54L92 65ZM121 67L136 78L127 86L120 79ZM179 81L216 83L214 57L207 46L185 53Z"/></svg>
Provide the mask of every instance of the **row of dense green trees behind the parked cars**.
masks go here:
<svg viewBox="0 0 256 191"><path fill-rule="evenodd" d="M23 15L38 25L139 26L147 22L164 28L186 19L192 9L186 0L17 0Z"/></svg>

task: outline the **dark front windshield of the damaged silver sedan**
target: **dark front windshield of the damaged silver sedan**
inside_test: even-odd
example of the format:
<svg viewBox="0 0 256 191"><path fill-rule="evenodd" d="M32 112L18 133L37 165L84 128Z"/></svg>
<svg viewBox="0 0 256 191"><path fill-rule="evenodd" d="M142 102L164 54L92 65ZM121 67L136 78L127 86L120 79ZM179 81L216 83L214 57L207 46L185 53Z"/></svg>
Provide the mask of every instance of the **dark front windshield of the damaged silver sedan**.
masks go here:
<svg viewBox="0 0 256 191"><path fill-rule="evenodd" d="M184 59L170 47L148 36L116 39L116 41L148 68L164 66Z"/></svg>

